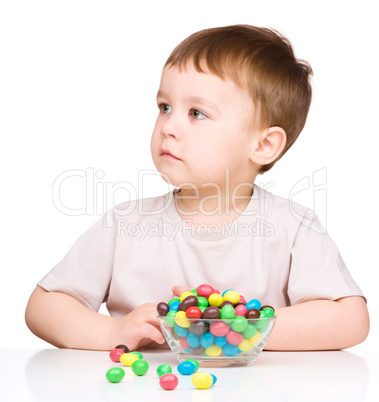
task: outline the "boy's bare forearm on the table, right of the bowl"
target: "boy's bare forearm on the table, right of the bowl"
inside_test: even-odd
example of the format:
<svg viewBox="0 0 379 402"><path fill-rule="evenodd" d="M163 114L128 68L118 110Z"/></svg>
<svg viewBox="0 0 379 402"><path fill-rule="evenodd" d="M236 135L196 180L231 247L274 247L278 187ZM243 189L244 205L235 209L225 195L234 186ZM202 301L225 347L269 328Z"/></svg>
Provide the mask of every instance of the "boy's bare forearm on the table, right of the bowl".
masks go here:
<svg viewBox="0 0 379 402"><path fill-rule="evenodd" d="M266 350L335 350L363 342L370 320L361 296L336 301L312 300L275 309L274 329Z"/></svg>

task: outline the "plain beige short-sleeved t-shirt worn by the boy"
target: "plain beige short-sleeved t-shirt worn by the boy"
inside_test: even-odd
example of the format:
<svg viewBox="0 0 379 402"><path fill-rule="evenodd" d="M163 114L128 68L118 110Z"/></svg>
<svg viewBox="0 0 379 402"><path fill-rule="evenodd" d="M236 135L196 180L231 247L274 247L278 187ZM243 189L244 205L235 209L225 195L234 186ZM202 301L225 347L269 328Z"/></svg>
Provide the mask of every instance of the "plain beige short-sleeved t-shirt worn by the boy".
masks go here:
<svg viewBox="0 0 379 402"><path fill-rule="evenodd" d="M208 283L273 307L363 296L309 208L254 185L237 220L204 233L179 216L173 194L110 209L38 285L94 311L106 302L117 318L143 303L168 301L173 285Z"/></svg>

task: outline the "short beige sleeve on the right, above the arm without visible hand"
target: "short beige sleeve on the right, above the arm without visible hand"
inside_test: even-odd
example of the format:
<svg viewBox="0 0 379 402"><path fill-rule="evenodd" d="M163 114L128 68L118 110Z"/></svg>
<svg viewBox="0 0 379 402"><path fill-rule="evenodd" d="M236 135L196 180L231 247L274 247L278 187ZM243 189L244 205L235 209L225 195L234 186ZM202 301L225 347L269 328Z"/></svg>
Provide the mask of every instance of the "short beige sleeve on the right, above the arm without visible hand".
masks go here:
<svg viewBox="0 0 379 402"><path fill-rule="evenodd" d="M291 250L288 280L291 305L315 299L363 296L337 246L317 215L310 212L303 217Z"/></svg>

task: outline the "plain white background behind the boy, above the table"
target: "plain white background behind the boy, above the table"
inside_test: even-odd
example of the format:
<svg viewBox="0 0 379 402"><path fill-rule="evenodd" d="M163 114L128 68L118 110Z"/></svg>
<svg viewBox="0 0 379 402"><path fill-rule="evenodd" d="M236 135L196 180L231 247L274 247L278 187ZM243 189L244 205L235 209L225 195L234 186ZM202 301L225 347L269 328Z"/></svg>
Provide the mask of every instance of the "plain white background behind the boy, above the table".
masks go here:
<svg viewBox="0 0 379 402"><path fill-rule="evenodd" d="M24 323L36 282L114 203L170 189L159 175L138 183L139 172L155 169L150 135L163 64L193 32L242 23L281 31L314 70L303 133L256 183L272 182L270 191L288 198L303 178L326 172L315 202L312 189L294 200L315 208L367 296L371 333L356 348L378 349L375 9L346 0L1 2L0 348L50 347ZM53 202L54 181L70 170L87 172L60 187L62 204L87 208L78 216ZM115 187L105 203L106 183Z"/></svg>

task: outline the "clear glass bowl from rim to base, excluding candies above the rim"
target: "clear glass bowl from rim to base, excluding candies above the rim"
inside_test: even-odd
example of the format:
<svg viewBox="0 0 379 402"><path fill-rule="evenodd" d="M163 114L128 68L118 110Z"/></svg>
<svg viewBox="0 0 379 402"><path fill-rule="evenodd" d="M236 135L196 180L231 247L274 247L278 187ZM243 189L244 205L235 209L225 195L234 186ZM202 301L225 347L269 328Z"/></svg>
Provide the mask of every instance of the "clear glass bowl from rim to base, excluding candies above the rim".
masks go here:
<svg viewBox="0 0 379 402"><path fill-rule="evenodd" d="M196 319L157 316L163 335L182 363L201 367L250 366L264 348L276 315L241 319Z"/></svg>

